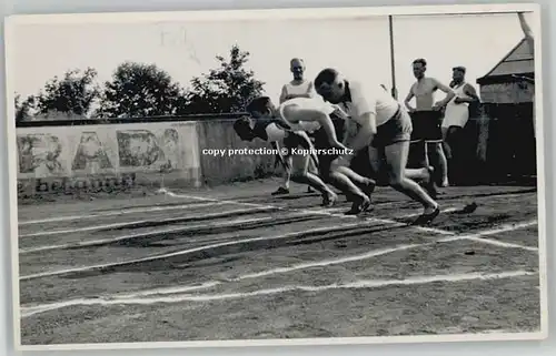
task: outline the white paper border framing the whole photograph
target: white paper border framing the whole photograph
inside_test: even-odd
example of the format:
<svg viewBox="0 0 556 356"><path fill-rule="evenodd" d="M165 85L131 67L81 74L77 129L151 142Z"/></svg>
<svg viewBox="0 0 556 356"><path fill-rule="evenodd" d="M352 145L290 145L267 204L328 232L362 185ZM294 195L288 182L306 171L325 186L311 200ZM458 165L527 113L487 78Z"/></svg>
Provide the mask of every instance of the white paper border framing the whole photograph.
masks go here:
<svg viewBox="0 0 556 356"><path fill-rule="evenodd" d="M543 48L540 31L540 6L537 3L489 3L489 4L437 4L437 6L394 6L394 7L351 7L351 8L291 8L264 10L191 10L155 12L106 12L106 13L63 13L63 14L16 14L6 18L6 74L7 74L7 118L14 116L12 68L17 65L10 55L10 48L17 45L13 29L22 24L61 23L152 23L166 21L241 21L241 20L288 20L288 19L349 19L386 16L431 16L463 13L517 13L532 12L532 28L535 33L535 110L537 135L537 199L538 199L538 244L539 244L539 287L540 287L540 330L538 333L508 334L463 334L436 336L387 336L387 337L345 337L345 338L299 338L266 340L214 340L214 342L169 342L169 343L110 343L110 344L63 344L63 345L21 345L19 305L19 252L18 252L18 197L17 190L17 144L13 120L7 120L8 176L10 203L10 248L12 317L16 350L81 350L81 349L145 349L145 348L187 348L187 347L245 347L245 346L305 346L305 345L361 345L361 344L406 344L406 343L453 343L453 342L494 342L494 340L539 340L548 336L547 301L547 246L546 246L546 172L545 172L545 130L544 130L544 89Z"/></svg>

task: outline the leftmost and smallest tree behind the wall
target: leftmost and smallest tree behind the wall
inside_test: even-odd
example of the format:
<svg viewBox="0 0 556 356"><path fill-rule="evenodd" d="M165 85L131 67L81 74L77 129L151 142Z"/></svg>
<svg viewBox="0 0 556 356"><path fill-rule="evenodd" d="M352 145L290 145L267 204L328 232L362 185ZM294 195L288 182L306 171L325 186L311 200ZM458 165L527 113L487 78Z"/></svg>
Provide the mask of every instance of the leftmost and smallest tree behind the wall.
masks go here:
<svg viewBox="0 0 556 356"><path fill-rule="evenodd" d="M83 72L70 70L61 79L54 77L49 80L36 96L38 113L49 114L54 111L86 116L98 98L96 78L97 71L88 68Z"/></svg>

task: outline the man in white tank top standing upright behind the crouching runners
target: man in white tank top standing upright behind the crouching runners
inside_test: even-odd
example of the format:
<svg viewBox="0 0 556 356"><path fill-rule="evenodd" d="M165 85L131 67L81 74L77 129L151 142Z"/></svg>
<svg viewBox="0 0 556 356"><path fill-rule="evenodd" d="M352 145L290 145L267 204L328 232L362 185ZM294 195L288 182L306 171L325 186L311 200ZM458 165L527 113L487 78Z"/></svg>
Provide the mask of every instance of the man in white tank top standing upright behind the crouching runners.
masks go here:
<svg viewBox="0 0 556 356"><path fill-rule="evenodd" d="M280 93L280 104L287 100L295 98L315 98L316 92L311 81L308 81L304 78L305 74L305 63L302 59L294 58L289 63L289 70L294 75L294 79L286 83ZM300 165L306 164L306 160L304 157L299 157L296 155L288 155L284 157L287 161L287 166L289 167L298 167ZM308 170L310 172L316 172L316 163L312 160L308 162ZM281 195L289 194L289 182L291 179L291 170L285 170L284 183L278 187L272 195ZM310 186L307 190L311 192Z"/></svg>

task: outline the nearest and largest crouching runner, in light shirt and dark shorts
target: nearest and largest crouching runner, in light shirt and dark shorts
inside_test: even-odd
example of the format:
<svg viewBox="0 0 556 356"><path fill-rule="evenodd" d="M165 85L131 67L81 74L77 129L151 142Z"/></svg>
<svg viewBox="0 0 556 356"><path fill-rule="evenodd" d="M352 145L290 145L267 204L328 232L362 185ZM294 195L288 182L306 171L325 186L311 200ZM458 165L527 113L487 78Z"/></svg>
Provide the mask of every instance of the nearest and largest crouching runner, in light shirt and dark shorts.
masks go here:
<svg viewBox="0 0 556 356"><path fill-rule="evenodd" d="M407 111L379 84L365 87L341 78L334 69L322 70L315 79L315 88L326 101L342 105L350 120L357 122L358 132L346 145L354 152L368 146L377 181L381 181L384 172L388 185L423 204L424 213L414 224L428 224L438 216L439 205L411 180L431 182L430 171L406 169L413 130ZM346 167L351 159L346 154L335 164Z"/></svg>

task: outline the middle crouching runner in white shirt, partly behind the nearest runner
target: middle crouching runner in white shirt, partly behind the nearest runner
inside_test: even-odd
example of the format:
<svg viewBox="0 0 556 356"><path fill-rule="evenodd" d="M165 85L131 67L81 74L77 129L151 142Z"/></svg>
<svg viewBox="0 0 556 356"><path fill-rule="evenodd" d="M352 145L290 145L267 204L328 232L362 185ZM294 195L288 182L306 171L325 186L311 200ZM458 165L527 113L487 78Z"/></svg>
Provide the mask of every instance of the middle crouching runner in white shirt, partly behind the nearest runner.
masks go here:
<svg viewBox="0 0 556 356"><path fill-rule="evenodd" d="M317 132L318 149L336 149L318 159L319 174L325 182L330 183L346 194L353 203L346 214L359 214L370 206L368 195L375 187L375 182L364 177L348 167L337 172L330 165L322 164L328 155L344 154L348 150L338 141L330 114L335 108L318 99L296 98L276 108L268 96L257 98L247 106L247 112L256 120L275 119L278 126L288 132ZM331 160L330 160L331 161Z"/></svg>

